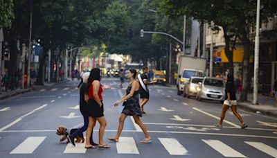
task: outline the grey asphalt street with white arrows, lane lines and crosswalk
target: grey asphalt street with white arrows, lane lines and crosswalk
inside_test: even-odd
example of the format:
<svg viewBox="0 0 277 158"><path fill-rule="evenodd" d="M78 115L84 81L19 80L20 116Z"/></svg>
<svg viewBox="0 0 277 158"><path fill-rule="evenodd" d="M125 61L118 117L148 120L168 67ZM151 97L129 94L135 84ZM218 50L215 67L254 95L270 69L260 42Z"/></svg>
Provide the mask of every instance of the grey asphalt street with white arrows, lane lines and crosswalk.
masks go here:
<svg viewBox="0 0 277 158"><path fill-rule="evenodd" d="M277 157L277 119L238 111L249 126L242 130L231 109L223 128L215 127L222 105L213 101L177 96L176 87L150 86L150 101L141 120L152 143L140 143L143 132L127 117L120 142L107 140L116 134L122 105L112 106L125 94L119 78L102 78L107 119L105 143L109 149L73 147L55 134L59 125L68 130L82 126L79 81L38 89L0 100L0 157ZM127 85L127 82L124 84ZM98 142L97 123L93 139ZM84 132L85 136L85 132Z"/></svg>

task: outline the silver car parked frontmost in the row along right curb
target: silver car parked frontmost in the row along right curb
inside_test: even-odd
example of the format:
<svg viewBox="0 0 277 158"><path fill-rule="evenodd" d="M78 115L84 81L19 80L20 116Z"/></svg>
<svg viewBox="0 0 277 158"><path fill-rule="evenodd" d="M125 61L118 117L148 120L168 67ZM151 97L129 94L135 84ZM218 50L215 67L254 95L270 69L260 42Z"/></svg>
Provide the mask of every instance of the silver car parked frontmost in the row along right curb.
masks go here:
<svg viewBox="0 0 277 158"><path fill-rule="evenodd" d="M222 78L205 77L202 83L199 83L196 99L218 100L221 103L225 99L225 82Z"/></svg>

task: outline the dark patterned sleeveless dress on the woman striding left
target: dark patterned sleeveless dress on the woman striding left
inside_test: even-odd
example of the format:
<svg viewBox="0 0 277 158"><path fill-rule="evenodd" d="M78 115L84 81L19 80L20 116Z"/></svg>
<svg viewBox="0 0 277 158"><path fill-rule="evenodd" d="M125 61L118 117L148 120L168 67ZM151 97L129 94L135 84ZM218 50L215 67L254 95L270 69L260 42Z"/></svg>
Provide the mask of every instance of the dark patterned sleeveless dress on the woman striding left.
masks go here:
<svg viewBox="0 0 277 158"><path fill-rule="evenodd" d="M132 86L129 85L126 89L126 95L130 93L131 89ZM141 107L139 106L139 91L134 91L134 95L126 100L125 107L121 113L129 116L142 116Z"/></svg>

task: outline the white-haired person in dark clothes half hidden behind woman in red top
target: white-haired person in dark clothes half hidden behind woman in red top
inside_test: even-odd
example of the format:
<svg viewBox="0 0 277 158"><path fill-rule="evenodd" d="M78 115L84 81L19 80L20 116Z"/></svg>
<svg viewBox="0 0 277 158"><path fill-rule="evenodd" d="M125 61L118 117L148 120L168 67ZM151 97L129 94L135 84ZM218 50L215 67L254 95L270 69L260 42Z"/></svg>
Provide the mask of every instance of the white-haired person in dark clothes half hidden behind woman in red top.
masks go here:
<svg viewBox="0 0 277 158"><path fill-rule="evenodd" d="M87 80L89 79L89 72L84 73L82 79L84 80L84 82L82 82L82 85L80 87L80 112L84 118L84 125L82 126L82 128L79 128L78 130L73 132L73 134L69 134L67 136L67 138L69 139L69 142L73 146L75 146L75 142L74 142L75 137L77 137L82 132L86 131L87 127L89 126L89 116L87 115L85 110L87 102L89 101L89 94L87 91ZM94 146L93 148L96 148L98 144L94 143L92 133L93 133L93 130L91 131L91 137L89 139L89 142L91 143L92 146Z"/></svg>

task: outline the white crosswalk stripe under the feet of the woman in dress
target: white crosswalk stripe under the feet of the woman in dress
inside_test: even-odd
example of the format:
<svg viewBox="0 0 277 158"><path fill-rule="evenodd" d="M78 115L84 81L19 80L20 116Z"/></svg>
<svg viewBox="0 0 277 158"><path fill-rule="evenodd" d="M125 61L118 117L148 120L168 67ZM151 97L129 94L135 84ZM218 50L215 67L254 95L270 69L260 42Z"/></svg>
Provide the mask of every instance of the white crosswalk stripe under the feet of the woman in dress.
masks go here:
<svg viewBox="0 0 277 158"><path fill-rule="evenodd" d="M120 137L116 149L118 154L139 154L133 137Z"/></svg>

